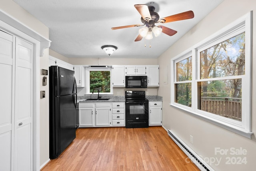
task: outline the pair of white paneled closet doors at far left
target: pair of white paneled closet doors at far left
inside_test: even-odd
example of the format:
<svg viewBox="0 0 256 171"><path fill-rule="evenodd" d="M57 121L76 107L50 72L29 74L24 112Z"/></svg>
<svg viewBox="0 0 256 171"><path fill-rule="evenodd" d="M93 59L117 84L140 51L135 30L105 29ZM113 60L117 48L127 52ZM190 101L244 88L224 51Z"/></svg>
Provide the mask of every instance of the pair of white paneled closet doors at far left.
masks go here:
<svg viewBox="0 0 256 171"><path fill-rule="evenodd" d="M32 171L32 54L0 30L0 170Z"/></svg>

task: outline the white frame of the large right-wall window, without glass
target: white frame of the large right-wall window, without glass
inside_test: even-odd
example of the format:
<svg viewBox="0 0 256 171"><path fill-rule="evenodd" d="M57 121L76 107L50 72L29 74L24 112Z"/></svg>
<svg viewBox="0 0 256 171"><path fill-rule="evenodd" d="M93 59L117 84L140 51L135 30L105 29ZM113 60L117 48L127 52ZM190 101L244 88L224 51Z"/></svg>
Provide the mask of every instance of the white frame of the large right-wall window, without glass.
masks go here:
<svg viewBox="0 0 256 171"><path fill-rule="evenodd" d="M245 74L239 76L226 76L222 78L206 78L200 79L200 52L206 50L220 42L224 42L234 36L237 36L245 32ZM192 54L192 106L188 107L175 103L175 84L176 82L176 63L188 58ZM252 116L251 116L251 104L252 104L252 11L238 18L233 23L224 27L222 30L216 32L212 36L206 38L202 42L189 48L182 54L171 59L171 99L170 105L178 107L189 113L200 117L210 123L214 123L220 127L224 127L230 131L238 133L244 137L251 138L252 131ZM242 121L237 121L230 118L225 118L220 115L208 113L198 109L198 82L212 81L212 80L228 80L242 78ZM244 88L246 87L246 88Z"/></svg>

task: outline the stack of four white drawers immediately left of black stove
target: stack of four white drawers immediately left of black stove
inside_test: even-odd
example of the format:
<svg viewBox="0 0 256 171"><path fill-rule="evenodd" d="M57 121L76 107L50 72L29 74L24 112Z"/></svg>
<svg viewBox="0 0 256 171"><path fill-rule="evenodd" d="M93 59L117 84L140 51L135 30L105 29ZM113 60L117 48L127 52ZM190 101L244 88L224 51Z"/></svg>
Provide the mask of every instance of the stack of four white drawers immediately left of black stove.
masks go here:
<svg viewBox="0 0 256 171"><path fill-rule="evenodd" d="M125 126L124 102L112 103L112 126Z"/></svg>

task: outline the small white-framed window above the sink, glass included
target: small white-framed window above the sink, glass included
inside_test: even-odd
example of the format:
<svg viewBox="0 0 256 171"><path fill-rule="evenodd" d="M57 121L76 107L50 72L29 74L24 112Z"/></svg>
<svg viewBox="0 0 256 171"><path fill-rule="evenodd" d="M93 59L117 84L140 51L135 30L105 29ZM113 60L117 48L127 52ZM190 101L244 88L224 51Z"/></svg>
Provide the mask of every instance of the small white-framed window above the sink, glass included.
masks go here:
<svg viewBox="0 0 256 171"><path fill-rule="evenodd" d="M91 94L93 90L96 93L99 90L100 94L112 94L111 67L86 68L86 94Z"/></svg>

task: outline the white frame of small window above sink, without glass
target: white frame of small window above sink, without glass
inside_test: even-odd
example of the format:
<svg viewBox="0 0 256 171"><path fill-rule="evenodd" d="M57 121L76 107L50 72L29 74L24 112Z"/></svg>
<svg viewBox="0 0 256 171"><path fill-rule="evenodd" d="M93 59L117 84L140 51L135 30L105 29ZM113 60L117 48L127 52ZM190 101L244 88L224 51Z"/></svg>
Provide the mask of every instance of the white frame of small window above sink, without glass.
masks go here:
<svg viewBox="0 0 256 171"><path fill-rule="evenodd" d="M113 95L113 84L112 84L112 67L108 66L106 68L93 68L93 67L85 67L85 93L86 95L92 95L95 93L90 92L90 71L110 71L110 92L109 93L101 93L101 95ZM96 93L98 93L96 91Z"/></svg>

